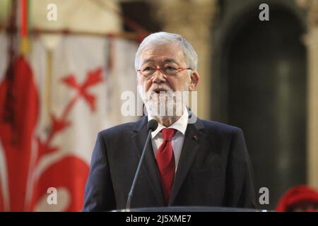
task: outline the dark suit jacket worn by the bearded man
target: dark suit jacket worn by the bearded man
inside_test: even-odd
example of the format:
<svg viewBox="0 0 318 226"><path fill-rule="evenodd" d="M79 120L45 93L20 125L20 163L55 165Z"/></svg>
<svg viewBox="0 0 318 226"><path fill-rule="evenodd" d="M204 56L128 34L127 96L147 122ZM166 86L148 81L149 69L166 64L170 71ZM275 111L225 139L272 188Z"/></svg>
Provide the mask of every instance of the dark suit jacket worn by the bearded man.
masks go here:
<svg viewBox="0 0 318 226"><path fill-rule="evenodd" d="M147 136L148 118L101 131L93 151L84 211L126 208ZM146 150L131 208L228 206L254 208L254 179L243 133L197 119L188 124L170 201L165 204L151 144Z"/></svg>

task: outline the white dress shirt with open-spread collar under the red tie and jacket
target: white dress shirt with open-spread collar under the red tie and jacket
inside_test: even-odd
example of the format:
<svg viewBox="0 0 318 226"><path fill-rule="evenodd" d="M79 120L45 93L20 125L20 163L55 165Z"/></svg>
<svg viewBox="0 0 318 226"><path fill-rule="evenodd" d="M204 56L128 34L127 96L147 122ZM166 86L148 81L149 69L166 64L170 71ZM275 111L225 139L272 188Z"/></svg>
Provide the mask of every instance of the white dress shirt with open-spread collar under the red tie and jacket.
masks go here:
<svg viewBox="0 0 318 226"><path fill-rule="evenodd" d="M158 148L160 147L161 143L163 143L163 135L160 133L162 129L171 128L176 129L177 133L175 136L172 137L172 150L173 154L175 155L175 170L177 171L177 166L179 163L179 158L182 150L182 145L184 141L184 134L187 129L188 124L188 110L187 107L184 107L184 111L182 117L180 117L174 124L169 127L165 127L162 124L158 123L158 128L151 133L151 143L153 145L153 153L156 155ZM150 115L148 115L148 121L153 119Z"/></svg>

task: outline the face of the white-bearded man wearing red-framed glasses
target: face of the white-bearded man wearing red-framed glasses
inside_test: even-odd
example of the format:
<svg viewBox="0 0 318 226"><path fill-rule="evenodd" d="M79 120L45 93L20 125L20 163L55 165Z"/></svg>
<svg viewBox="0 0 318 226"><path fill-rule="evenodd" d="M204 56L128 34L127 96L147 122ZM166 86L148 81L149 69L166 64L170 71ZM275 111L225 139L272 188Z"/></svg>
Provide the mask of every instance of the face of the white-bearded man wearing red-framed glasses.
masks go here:
<svg viewBox="0 0 318 226"><path fill-rule="evenodd" d="M145 67L154 68L167 68L173 67L188 68L182 48L178 44L161 44L146 47L141 52L139 58L139 69L145 69ZM151 78L146 78L141 73L137 75L137 84L139 93L145 103L148 113L153 116L153 112L159 112L160 106L165 105L165 113L169 115L167 111L183 108L182 100L179 98L173 98L175 93L178 95L183 91L194 90L197 81L199 81L199 75L196 71L183 70L170 76L165 74L162 70L157 70L153 73ZM177 92L179 91L179 92ZM172 105L167 103L167 99L173 99ZM176 113L176 112L175 112Z"/></svg>

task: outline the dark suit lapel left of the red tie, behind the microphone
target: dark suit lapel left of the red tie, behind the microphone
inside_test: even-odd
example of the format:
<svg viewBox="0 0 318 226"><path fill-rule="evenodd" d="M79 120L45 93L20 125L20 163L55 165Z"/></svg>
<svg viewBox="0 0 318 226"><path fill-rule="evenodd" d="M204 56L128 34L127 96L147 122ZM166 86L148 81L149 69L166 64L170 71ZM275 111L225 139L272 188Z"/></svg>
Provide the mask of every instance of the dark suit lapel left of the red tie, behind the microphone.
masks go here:
<svg viewBox="0 0 318 226"><path fill-rule="evenodd" d="M143 117L143 119L138 121L134 129L136 131L136 134L134 134L134 136L131 136L131 139L135 144L136 153L139 159L141 157L143 145L145 145L148 135L147 122L147 117ZM165 206L165 197L163 196L163 190L161 188L160 174L158 171L157 162L155 161L155 156L153 155L153 147L151 145L151 142L146 149L145 157L142 163L142 169L144 174L146 174L149 185L151 186L151 189L153 189L153 193L155 194L159 205Z"/></svg>

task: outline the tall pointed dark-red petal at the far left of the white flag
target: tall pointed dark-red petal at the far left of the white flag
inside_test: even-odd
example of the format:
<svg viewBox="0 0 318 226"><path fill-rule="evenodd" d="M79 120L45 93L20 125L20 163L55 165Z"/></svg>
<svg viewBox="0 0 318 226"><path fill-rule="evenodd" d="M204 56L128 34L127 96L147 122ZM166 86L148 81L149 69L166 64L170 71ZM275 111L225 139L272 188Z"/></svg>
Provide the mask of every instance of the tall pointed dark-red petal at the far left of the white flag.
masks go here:
<svg viewBox="0 0 318 226"><path fill-rule="evenodd" d="M0 139L6 156L11 211L25 210L37 107L33 72L24 57L18 57L0 84Z"/></svg>

